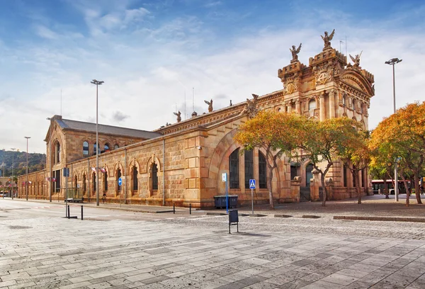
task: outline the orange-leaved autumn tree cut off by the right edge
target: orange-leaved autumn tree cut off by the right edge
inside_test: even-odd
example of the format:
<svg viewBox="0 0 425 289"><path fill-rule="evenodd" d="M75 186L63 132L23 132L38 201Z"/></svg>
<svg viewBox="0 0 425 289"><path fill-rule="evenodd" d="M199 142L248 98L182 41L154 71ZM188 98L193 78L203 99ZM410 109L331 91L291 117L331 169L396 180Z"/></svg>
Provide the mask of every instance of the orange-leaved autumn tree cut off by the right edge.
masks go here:
<svg viewBox="0 0 425 289"><path fill-rule="evenodd" d="M400 157L402 164L413 172L414 188L419 192L425 159L425 102L411 103L382 120L372 132L370 147L384 148L388 156ZM394 162L394 159L387 159L387 162ZM416 193L415 196L421 204L421 195Z"/></svg>

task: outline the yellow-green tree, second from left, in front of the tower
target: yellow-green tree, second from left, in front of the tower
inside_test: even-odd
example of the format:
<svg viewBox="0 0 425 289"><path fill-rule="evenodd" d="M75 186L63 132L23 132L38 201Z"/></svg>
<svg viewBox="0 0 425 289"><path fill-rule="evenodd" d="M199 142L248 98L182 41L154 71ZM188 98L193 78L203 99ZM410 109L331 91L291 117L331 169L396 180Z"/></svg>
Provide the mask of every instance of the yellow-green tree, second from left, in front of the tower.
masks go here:
<svg viewBox="0 0 425 289"><path fill-rule="evenodd" d="M325 177L341 156L345 147L353 140L356 134L356 121L349 118L329 118L323 121L308 120L297 135L296 147L301 151L293 151L292 156L300 159L308 159L314 169L319 171L322 183L322 205L326 205L327 188ZM296 155L298 154L298 155Z"/></svg>

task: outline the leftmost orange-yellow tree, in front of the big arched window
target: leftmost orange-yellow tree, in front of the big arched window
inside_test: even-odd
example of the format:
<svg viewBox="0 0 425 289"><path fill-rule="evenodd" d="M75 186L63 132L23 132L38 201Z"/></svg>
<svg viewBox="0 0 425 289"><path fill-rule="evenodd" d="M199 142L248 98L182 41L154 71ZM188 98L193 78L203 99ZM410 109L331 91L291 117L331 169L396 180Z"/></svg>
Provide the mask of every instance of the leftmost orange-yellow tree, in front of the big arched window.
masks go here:
<svg viewBox="0 0 425 289"><path fill-rule="evenodd" d="M273 170L278 166L277 159L284 153L293 150L295 138L300 133L294 133L302 127L306 118L295 113L277 113L275 111L260 111L254 118L242 124L234 140L243 146L242 153L254 147L264 149L267 160L267 188L270 208L274 209L271 181Z"/></svg>

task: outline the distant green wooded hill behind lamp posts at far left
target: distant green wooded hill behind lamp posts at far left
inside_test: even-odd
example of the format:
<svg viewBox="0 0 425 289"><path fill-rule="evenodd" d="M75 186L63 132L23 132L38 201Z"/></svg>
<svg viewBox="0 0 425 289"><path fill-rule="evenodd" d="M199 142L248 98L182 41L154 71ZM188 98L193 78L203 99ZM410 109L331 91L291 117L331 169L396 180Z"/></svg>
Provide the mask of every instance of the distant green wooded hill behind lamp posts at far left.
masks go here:
<svg viewBox="0 0 425 289"><path fill-rule="evenodd" d="M3 166L4 164L4 166ZM0 176L11 176L12 166L14 166L14 175L20 176L26 174L26 152L12 152L0 150ZM37 153L28 153L28 173L45 169L46 155ZM4 171L3 171L4 170Z"/></svg>

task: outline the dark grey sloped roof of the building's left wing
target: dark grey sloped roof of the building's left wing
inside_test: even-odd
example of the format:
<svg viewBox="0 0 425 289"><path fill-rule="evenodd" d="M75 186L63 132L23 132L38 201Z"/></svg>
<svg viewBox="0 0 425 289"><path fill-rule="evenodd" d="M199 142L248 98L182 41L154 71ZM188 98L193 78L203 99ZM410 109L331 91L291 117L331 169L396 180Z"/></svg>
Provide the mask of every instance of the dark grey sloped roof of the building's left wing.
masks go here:
<svg viewBox="0 0 425 289"><path fill-rule="evenodd" d="M77 120L56 119L57 124L63 129L84 130L86 132L96 132L96 123L85 123ZM98 125L98 133L106 135L123 135L125 137L137 137L151 139L161 136L158 132L149 132L147 130L135 130L132 128L120 128L112 125Z"/></svg>

